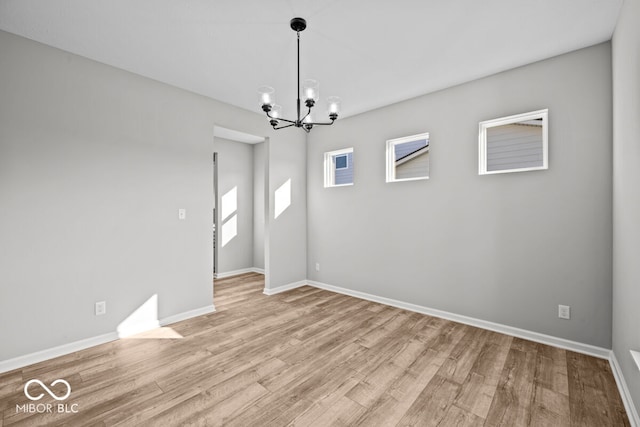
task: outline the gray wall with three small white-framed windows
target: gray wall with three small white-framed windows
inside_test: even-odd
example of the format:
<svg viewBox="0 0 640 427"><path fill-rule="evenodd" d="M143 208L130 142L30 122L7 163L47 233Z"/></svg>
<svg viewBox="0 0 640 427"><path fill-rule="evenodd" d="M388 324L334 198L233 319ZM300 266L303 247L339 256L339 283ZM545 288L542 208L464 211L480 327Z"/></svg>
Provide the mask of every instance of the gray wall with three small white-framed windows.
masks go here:
<svg viewBox="0 0 640 427"><path fill-rule="evenodd" d="M610 348L610 55L605 43L314 129L309 278ZM479 176L478 122L543 108L550 169ZM430 179L386 184L385 141L421 132ZM323 188L323 153L351 146L355 185Z"/></svg>

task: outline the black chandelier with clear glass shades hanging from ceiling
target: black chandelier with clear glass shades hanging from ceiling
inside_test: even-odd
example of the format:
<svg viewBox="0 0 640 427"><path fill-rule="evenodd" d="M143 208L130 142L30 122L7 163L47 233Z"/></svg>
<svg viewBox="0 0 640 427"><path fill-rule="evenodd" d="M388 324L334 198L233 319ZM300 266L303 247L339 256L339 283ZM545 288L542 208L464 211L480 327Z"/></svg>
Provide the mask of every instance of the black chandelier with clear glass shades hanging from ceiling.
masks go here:
<svg viewBox="0 0 640 427"><path fill-rule="evenodd" d="M306 114L301 115L300 111L300 32L307 28L307 21L302 18L293 18L290 22L291 29L298 35L298 99L296 107L298 115L296 120L289 120L281 117L282 107L275 103L275 90L270 86L262 86L258 89L260 101L262 103L262 111L267 114L269 123L274 129L284 129L291 126L304 129L307 133L316 125L332 125L338 118L340 112L340 98L331 96L327 98L327 109L330 122L314 122L311 118L311 109L319 99L319 84L316 80L307 79L302 83L304 93L304 105L307 107ZM284 124L281 124L284 122Z"/></svg>

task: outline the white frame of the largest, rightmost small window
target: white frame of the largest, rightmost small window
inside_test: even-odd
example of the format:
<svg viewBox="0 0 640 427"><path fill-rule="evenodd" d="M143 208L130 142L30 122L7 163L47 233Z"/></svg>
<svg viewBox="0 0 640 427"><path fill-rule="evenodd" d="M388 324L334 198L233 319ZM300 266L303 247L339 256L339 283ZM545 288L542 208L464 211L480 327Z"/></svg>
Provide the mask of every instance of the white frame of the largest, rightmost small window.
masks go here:
<svg viewBox="0 0 640 427"><path fill-rule="evenodd" d="M542 166L517 169L487 170L487 129L519 123L527 120L542 119ZM494 175L498 173L528 172L549 169L549 109L514 114L513 116L485 120L478 125L478 175Z"/></svg>

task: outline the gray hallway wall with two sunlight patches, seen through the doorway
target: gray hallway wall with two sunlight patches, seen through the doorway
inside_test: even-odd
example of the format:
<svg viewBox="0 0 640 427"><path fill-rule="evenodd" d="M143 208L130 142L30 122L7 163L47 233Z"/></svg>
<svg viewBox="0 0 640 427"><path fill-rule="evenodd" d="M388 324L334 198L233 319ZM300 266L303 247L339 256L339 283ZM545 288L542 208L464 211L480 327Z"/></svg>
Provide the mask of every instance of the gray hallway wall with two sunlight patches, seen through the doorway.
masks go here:
<svg viewBox="0 0 640 427"><path fill-rule="evenodd" d="M218 153L218 273L253 267L253 146L223 138L214 138ZM225 210L223 196L235 190L237 210L221 218ZM264 190L262 192L264 197ZM235 220L237 234L222 246L225 227ZM264 226L263 226L264 227Z"/></svg>

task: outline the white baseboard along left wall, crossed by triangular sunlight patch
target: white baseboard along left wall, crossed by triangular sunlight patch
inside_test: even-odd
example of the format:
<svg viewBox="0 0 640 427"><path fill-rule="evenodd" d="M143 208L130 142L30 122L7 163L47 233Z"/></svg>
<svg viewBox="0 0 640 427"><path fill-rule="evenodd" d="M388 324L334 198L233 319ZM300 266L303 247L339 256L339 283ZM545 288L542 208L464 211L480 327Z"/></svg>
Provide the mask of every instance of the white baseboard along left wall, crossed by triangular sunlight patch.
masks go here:
<svg viewBox="0 0 640 427"><path fill-rule="evenodd" d="M109 332L107 334L98 335L91 338L86 338L79 341L70 342L68 344L59 345L56 347L48 348L45 350L36 351L34 353L25 354L24 356L14 357L12 359L0 361L0 374L3 372L12 371L14 369L23 368L34 363L44 362L45 360L53 359L55 357L65 356L76 351L85 350L90 347L95 347L100 344L105 344L110 341L115 341L122 336L128 336L132 333L144 332L158 326L165 326L171 323L179 322L181 320L190 319L196 316L202 316L204 314L213 313L215 307L213 304L196 308L195 310L185 311L184 313L174 314L173 316L165 317L158 322L148 322L141 325L135 325L126 331L121 332L119 335L117 331Z"/></svg>

